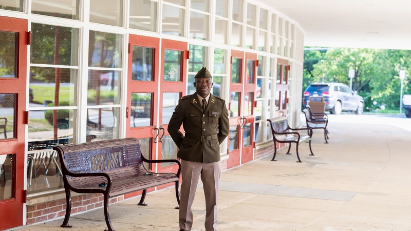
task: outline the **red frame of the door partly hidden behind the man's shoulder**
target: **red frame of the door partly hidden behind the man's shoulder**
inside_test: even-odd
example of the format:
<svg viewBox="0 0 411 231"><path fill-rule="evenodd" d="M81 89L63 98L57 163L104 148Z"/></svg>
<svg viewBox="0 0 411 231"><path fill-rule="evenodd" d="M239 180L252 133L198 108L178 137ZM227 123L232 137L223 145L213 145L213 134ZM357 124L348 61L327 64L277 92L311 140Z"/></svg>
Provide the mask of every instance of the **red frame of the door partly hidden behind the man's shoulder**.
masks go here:
<svg viewBox="0 0 411 231"><path fill-rule="evenodd" d="M163 76L164 73L164 52L165 50L177 50L177 51L182 51L182 59L181 59L181 82L168 82L164 81L162 77L160 77L160 91L159 91L159 97L160 97L160 111L158 113L159 117L159 124L163 128L163 132L160 132L159 137L163 136L169 136L169 132L167 131L168 124L163 124L163 111L162 111L162 105L163 105L163 93L164 92L179 92L180 93L180 98L183 97L186 94L186 82L187 82L187 62L189 59L189 51L188 51L188 43L186 42L180 42L180 41L173 41L173 40L166 40L162 39L161 41L161 74L160 76ZM182 126L181 126L181 131L184 133ZM158 143L158 160L161 160L161 145L162 143ZM178 170L178 165L173 164L169 165L166 167L161 167L161 163L157 164L157 172L177 172ZM164 188L170 185L163 185L159 186L157 188Z"/></svg>

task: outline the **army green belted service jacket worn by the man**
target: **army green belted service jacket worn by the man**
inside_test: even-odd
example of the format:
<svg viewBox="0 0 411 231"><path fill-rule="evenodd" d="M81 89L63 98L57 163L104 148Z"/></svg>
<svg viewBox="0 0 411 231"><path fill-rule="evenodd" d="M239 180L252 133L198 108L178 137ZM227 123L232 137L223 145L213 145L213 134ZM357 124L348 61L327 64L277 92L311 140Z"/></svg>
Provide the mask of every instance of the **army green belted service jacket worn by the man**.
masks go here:
<svg viewBox="0 0 411 231"><path fill-rule="evenodd" d="M181 123L185 136L180 132ZM179 148L177 157L192 162L220 161L219 144L229 132L229 119L223 99L210 94L206 111L202 111L197 93L178 101L168 131Z"/></svg>

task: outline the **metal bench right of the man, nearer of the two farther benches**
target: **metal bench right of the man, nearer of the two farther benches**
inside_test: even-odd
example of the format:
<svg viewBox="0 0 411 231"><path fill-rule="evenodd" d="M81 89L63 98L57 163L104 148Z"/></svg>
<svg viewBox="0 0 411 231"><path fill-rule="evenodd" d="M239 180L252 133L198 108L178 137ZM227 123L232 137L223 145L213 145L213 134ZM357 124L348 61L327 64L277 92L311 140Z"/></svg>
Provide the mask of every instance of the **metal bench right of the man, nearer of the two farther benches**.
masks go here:
<svg viewBox="0 0 411 231"><path fill-rule="evenodd" d="M270 122L271 126L271 132L273 133L273 141L274 141L274 156L271 161L277 161L275 159L275 156L277 154L277 144L276 143L289 143L290 146L288 147L287 154L291 155L290 153L290 148L291 148L291 143L296 143L296 152L297 152L297 162L301 162L300 156L298 155L298 144L309 142L310 144L310 151L311 155L314 156L314 153L312 153L311 149L311 136L312 136L312 129L311 128L290 128L288 126L287 118L286 117L277 117L273 119L268 119L268 122ZM296 130L307 130L308 131L308 136L301 136L300 133L298 132L293 132Z"/></svg>

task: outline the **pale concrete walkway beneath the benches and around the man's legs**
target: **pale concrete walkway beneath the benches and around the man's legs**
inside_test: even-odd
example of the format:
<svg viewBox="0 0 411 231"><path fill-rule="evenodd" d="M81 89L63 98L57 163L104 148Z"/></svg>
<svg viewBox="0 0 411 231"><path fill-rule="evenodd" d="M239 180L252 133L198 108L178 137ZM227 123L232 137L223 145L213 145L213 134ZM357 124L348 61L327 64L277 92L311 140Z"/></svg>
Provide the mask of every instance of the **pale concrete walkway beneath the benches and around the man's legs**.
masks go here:
<svg viewBox="0 0 411 231"><path fill-rule="evenodd" d="M300 146L303 163L279 151L271 157L221 175L218 230L411 230L411 132L386 123L390 118L330 116L329 144L314 132ZM367 120L367 117L369 120ZM362 121L376 123L357 123ZM396 123L411 120L396 118ZM334 122L333 122L334 121ZM338 121L338 122L337 122ZM349 122L349 123L348 123ZM192 230L204 230L204 195L198 185ZM110 205L117 231L178 230L174 188ZM70 230L62 219L16 230ZM99 230L106 225L103 209L73 216L71 230Z"/></svg>

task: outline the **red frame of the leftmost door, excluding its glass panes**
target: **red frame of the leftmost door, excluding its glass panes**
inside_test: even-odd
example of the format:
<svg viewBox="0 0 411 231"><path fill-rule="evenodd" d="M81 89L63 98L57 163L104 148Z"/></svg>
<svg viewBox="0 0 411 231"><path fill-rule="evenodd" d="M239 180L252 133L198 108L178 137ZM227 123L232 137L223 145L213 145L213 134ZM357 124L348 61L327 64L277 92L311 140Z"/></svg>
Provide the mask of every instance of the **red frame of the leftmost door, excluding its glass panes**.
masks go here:
<svg viewBox="0 0 411 231"><path fill-rule="evenodd" d="M27 20L0 16L0 31L18 33L17 78L0 79L0 93L16 94L15 138L0 140L0 155L15 154L13 160L12 198L0 201L0 230L23 225L25 108L27 83Z"/></svg>

